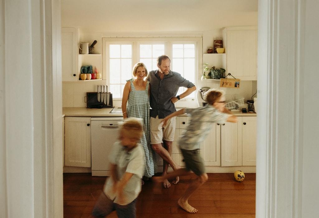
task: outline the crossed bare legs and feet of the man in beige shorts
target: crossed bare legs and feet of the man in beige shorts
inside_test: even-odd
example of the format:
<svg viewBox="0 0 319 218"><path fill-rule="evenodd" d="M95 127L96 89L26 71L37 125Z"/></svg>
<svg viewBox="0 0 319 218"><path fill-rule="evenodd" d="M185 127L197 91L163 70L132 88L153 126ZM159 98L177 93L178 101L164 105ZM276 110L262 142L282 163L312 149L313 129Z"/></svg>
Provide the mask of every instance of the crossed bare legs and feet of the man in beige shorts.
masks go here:
<svg viewBox="0 0 319 218"><path fill-rule="evenodd" d="M152 149L155 150L155 152L163 159L162 176L167 175L168 164L171 165L174 171L181 168L178 164L174 162L172 158L172 142L164 141L164 147L162 146L162 144L152 144ZM177 184L178 181L179 178L177 177L177 180L175 178L174 184ZM171 184L168 182L168 180L163 182L164 188L169 188L170 186Z"/></svg>

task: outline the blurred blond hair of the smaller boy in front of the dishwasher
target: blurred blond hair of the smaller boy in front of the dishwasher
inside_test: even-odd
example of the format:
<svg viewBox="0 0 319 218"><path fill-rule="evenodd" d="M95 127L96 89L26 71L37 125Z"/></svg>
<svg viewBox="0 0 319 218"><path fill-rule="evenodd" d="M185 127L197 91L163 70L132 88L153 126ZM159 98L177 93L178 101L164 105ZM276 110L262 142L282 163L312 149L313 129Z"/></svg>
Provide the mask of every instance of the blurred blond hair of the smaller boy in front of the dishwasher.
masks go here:
<svg viewBox="0 0 319 218"><path fill-rule="evenodd" d="M129 132L130 138L139 140L143 134L143 119L130 117L124 119L121 128Z"/></svg>

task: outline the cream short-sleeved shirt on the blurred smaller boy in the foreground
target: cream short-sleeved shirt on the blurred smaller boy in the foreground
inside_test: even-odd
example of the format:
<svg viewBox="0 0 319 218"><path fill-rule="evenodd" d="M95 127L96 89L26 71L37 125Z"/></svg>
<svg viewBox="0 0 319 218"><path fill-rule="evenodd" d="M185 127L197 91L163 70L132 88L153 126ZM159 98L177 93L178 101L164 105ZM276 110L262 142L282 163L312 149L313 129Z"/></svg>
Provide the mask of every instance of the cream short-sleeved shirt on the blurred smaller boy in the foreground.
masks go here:
<svg viewBox="0 0 319 218"><path fill-rule="evenodd" d="M111 164L117 165L116 171L118 179L122 178L125 172L133 173L127 185L124 187L123 196L125 201L118 201L115 193L112 192L113 179L109 177L104 185L103 191L109 199L114 200L114 203L127 205L135 200L141 192L144 170L144 152L142 145L137 143L137 146L130 151L126 151L120 141L114 143L112 151L109 155Z"/></svg>

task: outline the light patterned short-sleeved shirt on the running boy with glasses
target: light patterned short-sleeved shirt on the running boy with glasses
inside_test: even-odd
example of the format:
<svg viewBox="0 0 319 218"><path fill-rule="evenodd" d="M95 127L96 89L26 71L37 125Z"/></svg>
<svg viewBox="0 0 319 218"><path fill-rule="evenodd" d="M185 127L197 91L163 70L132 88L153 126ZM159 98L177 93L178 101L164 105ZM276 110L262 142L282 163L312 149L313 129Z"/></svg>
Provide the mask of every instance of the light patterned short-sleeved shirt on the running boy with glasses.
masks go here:
<svg viewBox="0 0 319 218"><path fill-rule="evenodd" d="M191 116L191 120L180 137L179 146L184 150L199 149L199 144L209 135L213 123L225 123L229 116L209 104L204 107L186 108L185 112Z"/></svg>

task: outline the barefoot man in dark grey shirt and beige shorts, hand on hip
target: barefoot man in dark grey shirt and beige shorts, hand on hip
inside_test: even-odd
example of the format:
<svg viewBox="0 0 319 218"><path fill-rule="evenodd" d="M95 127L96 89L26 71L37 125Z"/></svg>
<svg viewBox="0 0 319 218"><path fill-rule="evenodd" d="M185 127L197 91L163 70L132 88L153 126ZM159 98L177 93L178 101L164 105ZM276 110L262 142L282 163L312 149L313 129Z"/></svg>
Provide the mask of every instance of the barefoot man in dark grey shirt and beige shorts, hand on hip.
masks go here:
<svg viewBox="0 0 319 218"><path fill-rule="evenodd" d="M166 125L163 125L162 120L176 111L175 102L196 90L193 83L184 79L179 73L171 71L170 65L171 60L167 55L159 56L157 58L158 70L150 71L146 78L146 81L150 81L151 86L151 145L152 149L163 159L162 176L167 174L168 164L171 165L174 171L180 168L172 159L172 142L174 141L176 117L171 118ZM179 87L185 87L187 90L176 96ZM176 177L173 184L178 182L179 177ZM164 188L169 188L170 186L171 184L168 180L163 182Z"/></svg>

